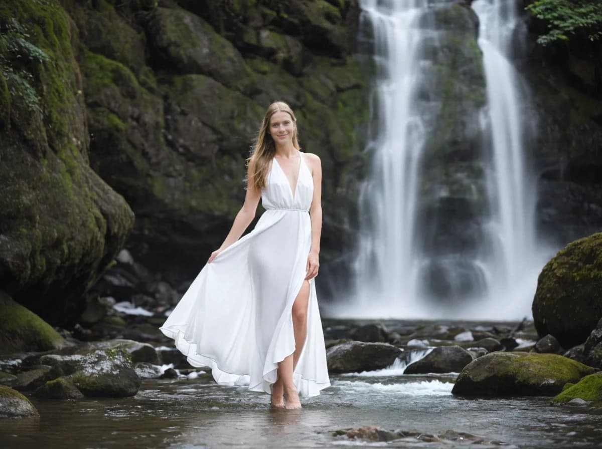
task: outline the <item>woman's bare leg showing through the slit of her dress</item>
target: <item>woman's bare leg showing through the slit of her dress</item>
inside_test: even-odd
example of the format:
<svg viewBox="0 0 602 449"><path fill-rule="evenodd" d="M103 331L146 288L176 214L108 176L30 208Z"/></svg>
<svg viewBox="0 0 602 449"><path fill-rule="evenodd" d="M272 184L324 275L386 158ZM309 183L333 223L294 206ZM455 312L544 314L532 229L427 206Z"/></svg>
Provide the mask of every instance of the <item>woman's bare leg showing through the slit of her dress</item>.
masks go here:
<svg viewBox="0 0 602 449"><path fill-rule="evenodd" d="M304 281L295 302L293 303L293 331L295 337L295 350L278 364L278 379L282 379L284 400L287 409L300 409L299 394L293 382L293 372L299 361L299 355L305 344L307 335L307 306L309 303L309 282ZM272 389L273 392L273 389Z"/></svg>

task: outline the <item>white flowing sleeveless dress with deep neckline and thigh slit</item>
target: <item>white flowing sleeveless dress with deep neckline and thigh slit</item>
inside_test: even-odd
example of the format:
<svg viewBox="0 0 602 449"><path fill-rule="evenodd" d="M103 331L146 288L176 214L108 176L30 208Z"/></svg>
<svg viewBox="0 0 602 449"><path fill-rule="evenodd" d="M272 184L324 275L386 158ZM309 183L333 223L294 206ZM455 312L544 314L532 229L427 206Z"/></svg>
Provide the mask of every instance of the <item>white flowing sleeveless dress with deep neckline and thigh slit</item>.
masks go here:
<svg viewBox="0 0 602 449"><path fill-rule="evenodd" d="M218 383L248 381L249 390L270 393L278 362L295 350L291 312L306 275L314 194L299 157L294 192L272 160L257 225L203 267L160 328L191 365L211 367ZM300 396L330 385L314 279L309 286L307 336L293 374Z"/></svg>

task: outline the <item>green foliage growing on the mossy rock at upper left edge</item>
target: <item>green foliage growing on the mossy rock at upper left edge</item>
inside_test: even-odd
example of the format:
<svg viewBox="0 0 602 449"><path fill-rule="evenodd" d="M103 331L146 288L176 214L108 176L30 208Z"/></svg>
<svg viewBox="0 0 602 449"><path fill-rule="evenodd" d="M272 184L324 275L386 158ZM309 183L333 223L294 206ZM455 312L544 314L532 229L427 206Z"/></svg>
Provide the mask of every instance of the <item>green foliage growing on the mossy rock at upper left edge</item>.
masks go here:
<svg viewBox="0 0 602 449"><path fill-rule="evenodd" d="M31 43L25 26L11 19L0 23L0 73L7 80L11 96L19 96L30 110L40 112L40 97L27 65L49 61L48 54Z"/></svg>

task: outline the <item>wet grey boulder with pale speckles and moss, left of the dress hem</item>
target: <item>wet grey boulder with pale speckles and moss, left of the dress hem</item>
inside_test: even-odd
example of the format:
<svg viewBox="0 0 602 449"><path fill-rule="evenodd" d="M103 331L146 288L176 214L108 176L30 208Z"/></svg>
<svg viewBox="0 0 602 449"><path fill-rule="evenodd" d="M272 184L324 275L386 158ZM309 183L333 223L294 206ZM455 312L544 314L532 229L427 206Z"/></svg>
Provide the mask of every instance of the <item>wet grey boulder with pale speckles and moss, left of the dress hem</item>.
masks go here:
<svg viewBox="0 0 602 449"><path fill-rule="evenodd" d="M96 350L87 354L45 355L40 361L58 366L85 396L128 397L140 388L140 377L134 371L125 349Z"/></svg>

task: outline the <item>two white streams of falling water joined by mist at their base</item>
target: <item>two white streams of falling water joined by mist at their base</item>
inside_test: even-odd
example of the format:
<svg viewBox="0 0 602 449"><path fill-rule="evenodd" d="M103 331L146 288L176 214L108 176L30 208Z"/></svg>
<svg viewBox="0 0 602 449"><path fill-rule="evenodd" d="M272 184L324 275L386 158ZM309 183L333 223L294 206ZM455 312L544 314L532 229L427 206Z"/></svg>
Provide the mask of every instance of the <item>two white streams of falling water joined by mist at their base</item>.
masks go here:
<svg viewBox="0 0 602 449"><path fill-rule="evenodd" d="M433 304L420 293L416 242L417 189L423 182L421 153L427 132L417 108L417 80L432 64L421 55L425 38L436 30L418 26L427 0L364 0L362 17L374 35L377 78L372 107L376 129L367 153L371 174L360 197L361 230L356 260L355 298L328 310L339 317L517 319L530 315L536 276L548 254L535 237L535 188L524 162L519 76L512 66L512 40L520 23L512 0L477 0L479 47L483 52L487 108L483 111L482 165L488 186L489 219L483 216L484 242L472 260L482 273L482 298L464 304ZM434 6L433 6L434 5ZM431 35L429 35L429 33Z"/></svg>

